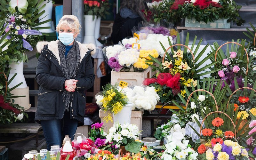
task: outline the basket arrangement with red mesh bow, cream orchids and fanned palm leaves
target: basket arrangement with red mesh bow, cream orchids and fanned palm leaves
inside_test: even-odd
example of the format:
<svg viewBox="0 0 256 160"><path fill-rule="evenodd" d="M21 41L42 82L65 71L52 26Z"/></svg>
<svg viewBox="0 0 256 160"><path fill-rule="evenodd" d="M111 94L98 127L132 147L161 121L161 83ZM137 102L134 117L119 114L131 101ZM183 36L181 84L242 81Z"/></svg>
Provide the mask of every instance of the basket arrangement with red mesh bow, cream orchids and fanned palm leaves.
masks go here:
<svg viewBox="0 0 256 160"><path fill-rule="evenodd" d="M185 44L188 44L188 38L189 34L187 34L186 42ZM169 38L167 38L169 41L169 46L172 46L172 43ZM200 46L202 40L197 44L197 47ZM184 87L188 87L189 90L191 90L192 85L196 87L197 80L200 79L200 76L204 76L208 73L218 71L217 69L212 71L205 71L205 69L210 68L213 66L216 62L213 62L211 64L208 64L204 67L201 67L201 65L204 64L206 60L208 60L214 53L211 53L210 55L206 56L203 60L201 60L199 63L197 61L199 58L204 54L205 49L208 47L206 45L204 49L197 53L197 50L194 52L194 54L198 54L196 59L194 59L193 54L191 54L188 51L188 47L184 48L184 50L181 50L180 45L185 46L180 43L180 36L177 35L177 43L173 46L177 46L177 51L174 51L173 48L170 48L171 53L168 53L168 50L166 52L166 57L163 59L162 62L155 59L151 55L149 57L152 60L148 60L147 62L156 62L159 67L153 66L149 63L147 63L149 66L151 66L154 70L158 70L159 72L156 73L152 78L146 79L144 81L144 85L154 86L156 88L157 94L160 97L160 101L162 103L170 103L172 100L179 100L178 93L182 93L183 97L185 94ZM194 45L196 43L196 37L193 41L192 47L194 48ZM161 46L163 47L163 51L166 51L164 45L160 42ZM172 54L172 57L170 56ZM198 69L200 68L200 69Z"/></svg>

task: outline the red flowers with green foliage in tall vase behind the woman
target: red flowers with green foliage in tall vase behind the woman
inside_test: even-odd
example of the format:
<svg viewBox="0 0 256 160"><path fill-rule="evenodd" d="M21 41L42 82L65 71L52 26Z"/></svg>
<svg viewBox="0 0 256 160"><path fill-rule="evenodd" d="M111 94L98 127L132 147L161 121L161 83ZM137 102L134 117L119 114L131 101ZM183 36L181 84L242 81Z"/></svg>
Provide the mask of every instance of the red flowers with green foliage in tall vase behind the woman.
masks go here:
<svg viewBox="0 0 256 160"><path fill-rule="evenodd" d="M94 15L106 18L109 14L108 0L84 0L84 15Z"/></svg>

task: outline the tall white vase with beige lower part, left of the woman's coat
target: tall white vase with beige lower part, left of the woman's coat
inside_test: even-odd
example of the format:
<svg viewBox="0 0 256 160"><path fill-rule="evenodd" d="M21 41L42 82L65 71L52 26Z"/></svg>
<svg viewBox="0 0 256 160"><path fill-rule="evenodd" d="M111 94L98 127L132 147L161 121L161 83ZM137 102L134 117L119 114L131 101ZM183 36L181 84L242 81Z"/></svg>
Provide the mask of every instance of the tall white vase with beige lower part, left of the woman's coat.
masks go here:
<svg viewBox="0 0 256 160"><path fill-rule="evenodd" d="M31 104L29 104L29 88L27 86L27 83L25 81L25 77L23 75L23 61L21 62L14 62L10 64L10 74L8 77L8 81L17 73L17 75L13 78L10 84L8 84L9 88L12 88L22 82L20 86L15 88L11 91L13 94L12 96L26 96L26 97L19 97L19 98L13 98L15 101L14 103L19 104L21 107L24 108L24 110L28 110L31 107Z"/></svg>

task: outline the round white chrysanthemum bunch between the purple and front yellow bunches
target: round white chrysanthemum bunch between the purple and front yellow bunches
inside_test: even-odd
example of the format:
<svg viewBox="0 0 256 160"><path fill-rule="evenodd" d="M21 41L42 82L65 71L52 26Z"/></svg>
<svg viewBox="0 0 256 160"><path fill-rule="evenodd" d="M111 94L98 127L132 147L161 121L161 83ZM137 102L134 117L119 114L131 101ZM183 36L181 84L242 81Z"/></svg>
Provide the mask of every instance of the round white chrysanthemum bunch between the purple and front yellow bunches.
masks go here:
<svg viewBox="0 0 256 160"><path fill-rule="evenodd" d="M138 52L136 49L127 49L118 55L118 61L121 66L131 66L133 63L138 61L140 52Z"/></svg>

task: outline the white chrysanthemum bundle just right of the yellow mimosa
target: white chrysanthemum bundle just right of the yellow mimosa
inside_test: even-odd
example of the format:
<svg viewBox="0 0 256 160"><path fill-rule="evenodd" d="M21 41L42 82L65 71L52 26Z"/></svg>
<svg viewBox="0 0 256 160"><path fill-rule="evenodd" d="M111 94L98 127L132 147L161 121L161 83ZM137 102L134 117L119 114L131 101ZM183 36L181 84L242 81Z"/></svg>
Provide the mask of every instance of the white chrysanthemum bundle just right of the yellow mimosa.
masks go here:
<svg viewBox="0 0 256 160"><path fill-rule="evenodd" d="M154 87L125 87L122 89L122 92L126 94L129 102L134 104L132 110L137 108L139 110L150 111L155 109L156 104L159 101L159 96Z"/></svg>

